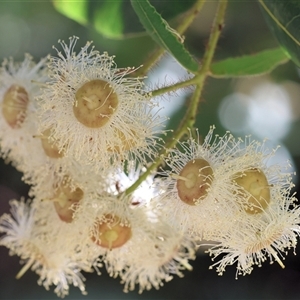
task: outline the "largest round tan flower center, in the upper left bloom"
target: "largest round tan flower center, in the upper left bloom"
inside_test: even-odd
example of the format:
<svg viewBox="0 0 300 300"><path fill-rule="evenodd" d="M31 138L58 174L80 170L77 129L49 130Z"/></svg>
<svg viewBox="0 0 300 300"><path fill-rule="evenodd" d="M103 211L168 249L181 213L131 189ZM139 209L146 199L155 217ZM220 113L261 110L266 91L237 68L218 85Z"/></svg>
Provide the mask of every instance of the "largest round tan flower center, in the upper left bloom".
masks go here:
<svg viewBox="0 0 300 300"><path fill-rule="evenodd" d="M104 126L118 106L118 96L107 81L95 79L85 83L75 94L73 112L76 119L90 128Z"/></svg>

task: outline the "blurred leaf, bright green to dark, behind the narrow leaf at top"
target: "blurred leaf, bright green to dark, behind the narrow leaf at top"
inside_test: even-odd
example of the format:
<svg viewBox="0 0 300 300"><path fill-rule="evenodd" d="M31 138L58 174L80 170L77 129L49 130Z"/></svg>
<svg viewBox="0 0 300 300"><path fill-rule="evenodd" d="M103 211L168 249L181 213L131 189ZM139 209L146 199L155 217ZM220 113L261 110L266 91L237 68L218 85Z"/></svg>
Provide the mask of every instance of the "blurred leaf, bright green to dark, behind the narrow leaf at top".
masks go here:
<svg viewBox="0 0 300 300"><path fill-rule="evenodd" d="M188 10L196 0L151 0L167 20ZM54 7L66 17L89 27L111 39L140 36L144 33L136 13L128 0L52 0Z"/></svg>

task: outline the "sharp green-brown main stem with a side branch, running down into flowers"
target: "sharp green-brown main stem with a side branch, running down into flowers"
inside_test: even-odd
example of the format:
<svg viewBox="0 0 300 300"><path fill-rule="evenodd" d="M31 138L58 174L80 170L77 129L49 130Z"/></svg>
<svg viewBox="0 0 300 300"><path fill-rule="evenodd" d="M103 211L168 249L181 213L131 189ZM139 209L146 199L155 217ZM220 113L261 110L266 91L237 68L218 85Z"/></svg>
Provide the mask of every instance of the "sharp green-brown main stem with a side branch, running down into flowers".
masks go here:
<svg viewBox="0 0 300 300"><path fill-rule="evenodd" d="M172 138L166 143L164 149L162 149L162 151L156 157L154 162L147 168L147 170L126 191L124 191L124 195L131 194L154 170L156 170L156 168L161 164L163 158L169 152L169 150L178 143L178 141L183 137L185 133L187 133L188 128L193 127L196 120L197 110L200 104L200 96L203 90L204 82L207 76L209 75L209 68L216 50L218 39L223 29L226 7L227 0L220 0L214 19L211 35L204 53L203 64L202 67L199 69L197 75L187 81L179 82L173 86L165 87L152 92L152 94L156 96L187 85L196 85L195 92L190 100L189 108L183 120L181 121L181 124L174 132Z"/></svg>

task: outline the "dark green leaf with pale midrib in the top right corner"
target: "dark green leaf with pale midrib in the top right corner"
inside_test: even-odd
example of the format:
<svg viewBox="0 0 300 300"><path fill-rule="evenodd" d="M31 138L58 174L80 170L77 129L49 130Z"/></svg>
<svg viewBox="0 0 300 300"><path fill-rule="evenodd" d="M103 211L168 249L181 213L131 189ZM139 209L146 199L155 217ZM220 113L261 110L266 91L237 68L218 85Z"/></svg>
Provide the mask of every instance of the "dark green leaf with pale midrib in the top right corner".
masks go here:
<svg viewBox="0 0 300 300"><path fill-rule="evenodd" d="M259 3L269 28L300 67L300 1L259 0Z"/></svg>

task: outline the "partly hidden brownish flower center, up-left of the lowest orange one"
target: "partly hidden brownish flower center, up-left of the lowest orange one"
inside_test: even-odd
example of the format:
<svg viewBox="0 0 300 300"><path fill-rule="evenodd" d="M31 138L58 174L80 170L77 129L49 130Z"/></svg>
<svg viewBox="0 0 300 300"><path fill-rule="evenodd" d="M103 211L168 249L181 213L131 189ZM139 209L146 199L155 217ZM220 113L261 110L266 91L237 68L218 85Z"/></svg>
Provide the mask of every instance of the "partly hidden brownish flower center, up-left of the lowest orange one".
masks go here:
<svg viewBox="0 0 300 300"><path fill-rule="evenodd" d="M78 207L83 195L82 189L76 188L71 190L69 185L62 185L57 189L52 201L62 221L66 223L72 222L74 210Z"/></svg>

